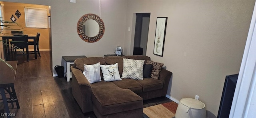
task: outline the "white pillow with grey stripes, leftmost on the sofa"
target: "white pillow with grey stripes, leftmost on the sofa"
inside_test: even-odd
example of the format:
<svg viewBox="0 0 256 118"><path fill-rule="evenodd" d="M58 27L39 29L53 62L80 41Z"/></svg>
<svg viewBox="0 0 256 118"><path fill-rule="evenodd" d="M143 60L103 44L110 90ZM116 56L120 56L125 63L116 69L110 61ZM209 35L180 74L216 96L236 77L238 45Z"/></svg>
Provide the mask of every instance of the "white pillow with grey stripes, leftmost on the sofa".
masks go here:
<svg viewBox="0 0 256 118"><path fill-rule="evenodd" d="M84 76L90 82L90 84L95 82L100 82L100 62L93 65L84 64Z"/></svg>

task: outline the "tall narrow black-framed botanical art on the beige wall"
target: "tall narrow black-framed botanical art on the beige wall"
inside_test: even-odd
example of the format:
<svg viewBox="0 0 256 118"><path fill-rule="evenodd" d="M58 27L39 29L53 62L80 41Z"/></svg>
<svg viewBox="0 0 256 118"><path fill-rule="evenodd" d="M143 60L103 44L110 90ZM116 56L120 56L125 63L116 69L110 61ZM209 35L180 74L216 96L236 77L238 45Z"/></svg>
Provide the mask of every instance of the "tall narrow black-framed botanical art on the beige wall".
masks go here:
<svg viewBox="0 0 256 118"><path fill-rule="evenodd" d="M167 17L156 18L156 34L154 43L154 54L163 56L164 53L164 40L166 33Z"/></svg>

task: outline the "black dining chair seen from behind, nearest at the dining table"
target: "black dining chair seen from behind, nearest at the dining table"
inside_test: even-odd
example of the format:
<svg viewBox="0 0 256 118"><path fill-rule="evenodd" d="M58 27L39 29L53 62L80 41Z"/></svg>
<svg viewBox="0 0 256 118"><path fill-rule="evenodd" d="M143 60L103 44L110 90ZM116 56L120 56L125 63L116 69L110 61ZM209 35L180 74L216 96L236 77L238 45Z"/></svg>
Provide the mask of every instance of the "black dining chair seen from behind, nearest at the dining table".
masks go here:
<svg viewBox="0 0 256 118"><path fill-rule="evenodd" d="M14 35L14 38L12 39L12 42L14 44L14 51L15 51L15 57L16 57L16 60L17 59L17 56L27 56L27 62L29 62L29 53L28 53L28 35ZM23 49L26 48L26 52L22 52L21 54L18 54L17 53L17 50L20 50L20 49Z"/></svg>

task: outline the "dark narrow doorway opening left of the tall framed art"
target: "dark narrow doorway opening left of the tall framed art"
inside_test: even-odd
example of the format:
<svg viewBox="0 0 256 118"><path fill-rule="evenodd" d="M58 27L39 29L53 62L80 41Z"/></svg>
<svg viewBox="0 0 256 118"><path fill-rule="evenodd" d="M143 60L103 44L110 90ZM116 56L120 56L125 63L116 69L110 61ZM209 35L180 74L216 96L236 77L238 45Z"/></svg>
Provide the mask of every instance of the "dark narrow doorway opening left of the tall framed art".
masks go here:
<svg viewBox="0 0 256 118"><path fill-rule="evenodd" d="M136 13L133 55L146 55L150 13Z"/></svg>

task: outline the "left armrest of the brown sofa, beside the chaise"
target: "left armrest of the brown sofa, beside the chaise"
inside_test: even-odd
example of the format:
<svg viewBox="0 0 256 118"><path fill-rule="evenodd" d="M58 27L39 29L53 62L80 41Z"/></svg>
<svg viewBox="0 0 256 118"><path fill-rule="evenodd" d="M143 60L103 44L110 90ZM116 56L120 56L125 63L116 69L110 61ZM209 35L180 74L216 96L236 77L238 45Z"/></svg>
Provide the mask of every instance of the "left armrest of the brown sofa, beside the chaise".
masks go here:
<svg viewBox="0 0 256 118"><path fill-rule="evenodd" d="M72 94L82 109L82 112L91 112L93 110L92 86L81 70L75 66L71 66L70 68L72 71Z"/></svg>

